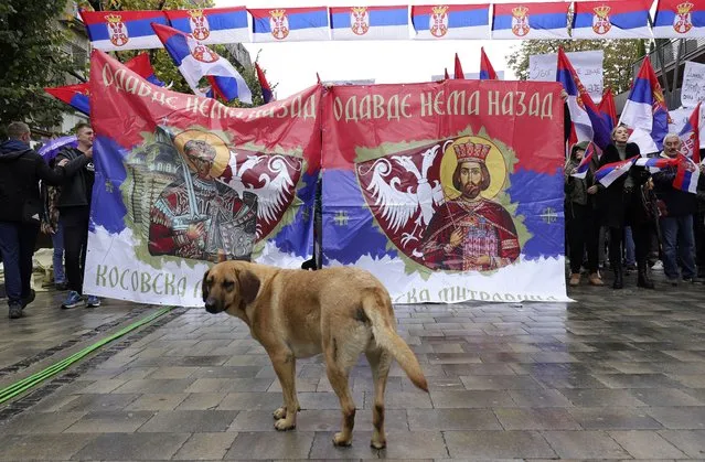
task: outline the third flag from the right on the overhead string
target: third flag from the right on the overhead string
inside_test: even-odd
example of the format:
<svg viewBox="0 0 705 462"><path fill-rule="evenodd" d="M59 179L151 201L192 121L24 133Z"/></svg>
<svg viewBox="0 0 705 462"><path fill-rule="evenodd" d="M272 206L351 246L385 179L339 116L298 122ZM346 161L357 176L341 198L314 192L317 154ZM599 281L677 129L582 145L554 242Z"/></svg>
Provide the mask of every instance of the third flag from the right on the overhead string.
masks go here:
<svg viewBox="0 0 705 462"><path fill-rule="evenodd" d="M492 39L570 39L568 2L496 3Z"/></svg>

